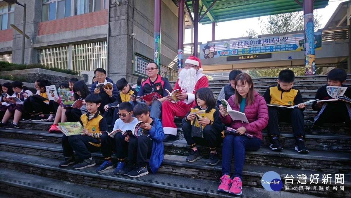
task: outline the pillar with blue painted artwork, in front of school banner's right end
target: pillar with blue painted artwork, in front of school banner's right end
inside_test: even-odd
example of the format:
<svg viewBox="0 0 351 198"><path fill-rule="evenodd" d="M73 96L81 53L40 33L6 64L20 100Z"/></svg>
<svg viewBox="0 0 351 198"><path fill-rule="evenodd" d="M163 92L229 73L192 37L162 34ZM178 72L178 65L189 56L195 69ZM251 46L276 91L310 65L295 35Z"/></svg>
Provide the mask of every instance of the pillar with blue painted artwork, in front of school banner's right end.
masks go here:
<svg viewBox="0 0 351 198"><path fill-rule="evenodd" d="M313 0L303 0L305 36L305 75L316 74L314 56Z"/></svg>

